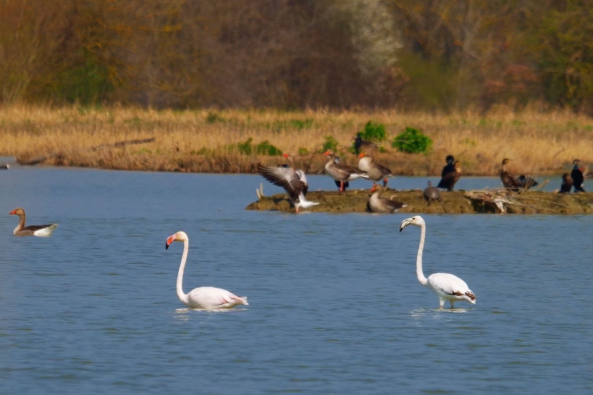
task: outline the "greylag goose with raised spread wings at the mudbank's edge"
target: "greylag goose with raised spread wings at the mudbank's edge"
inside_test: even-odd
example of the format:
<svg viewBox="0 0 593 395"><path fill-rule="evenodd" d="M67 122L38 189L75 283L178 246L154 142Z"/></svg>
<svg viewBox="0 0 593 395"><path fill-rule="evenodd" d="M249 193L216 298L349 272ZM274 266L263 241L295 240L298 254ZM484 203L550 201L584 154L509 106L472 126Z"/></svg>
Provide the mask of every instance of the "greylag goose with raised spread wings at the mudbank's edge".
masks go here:
<svg viewBox="0 0 593 395"><path fill-rule="evenodd" d="M269 168L257 163L257 172L261 174L263 178L267 179L267 181L272 182L272 184L284 188L284 190L288 193L288 198L292 205L294 205L297 209L297 213L299 212L300 207L307 208L311 205L319 204L318 202L305 199L308 185L304 172L294 168L294 159L292 156L288 155L287 153L283 154L282 156L288 160L288 168Z"/></svg>

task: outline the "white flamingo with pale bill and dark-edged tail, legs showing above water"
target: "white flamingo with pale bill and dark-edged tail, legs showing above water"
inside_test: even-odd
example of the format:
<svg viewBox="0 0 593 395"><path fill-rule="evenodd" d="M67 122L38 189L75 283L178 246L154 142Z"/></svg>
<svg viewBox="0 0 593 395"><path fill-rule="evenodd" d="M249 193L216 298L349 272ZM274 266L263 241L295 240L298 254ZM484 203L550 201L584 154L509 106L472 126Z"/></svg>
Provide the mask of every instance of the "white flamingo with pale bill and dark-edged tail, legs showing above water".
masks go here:
<svg viewBox="0 0 593 395"><path fill-rule="evenodd" d="M429 275L428 278L424 277L422 272L422 250L424 249L426 223L420 216L405 219L401 221L400 232L408 225L420 227L420 245L416 256L416 277L420 284L431 290L439 298L439 309L443 308L445 300L451 303L451 309L457 300L465 300L471 304L476 304L476 296L461 278L448 273L435 273Z"/></svg>

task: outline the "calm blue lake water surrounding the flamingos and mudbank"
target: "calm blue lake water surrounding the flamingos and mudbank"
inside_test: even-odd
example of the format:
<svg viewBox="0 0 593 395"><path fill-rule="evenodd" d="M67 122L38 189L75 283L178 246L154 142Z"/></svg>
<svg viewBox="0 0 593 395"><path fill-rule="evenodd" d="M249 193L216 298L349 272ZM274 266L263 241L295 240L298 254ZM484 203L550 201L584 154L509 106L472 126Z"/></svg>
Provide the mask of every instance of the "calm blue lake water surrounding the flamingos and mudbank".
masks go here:
<svg viewBox="0 0 593 395"><path fill-rule="evenodd" d="M419 229L398 232L409 214L244 210L262 181L279 191L257 175L1 171L0 393L593 393L591 217L423 214L425 274L477 296L439 311L416 280ZM53 236L12 236L18 206ZM250 306L184 308L183 245L164 248L177 230L184 291Z"/></svg>

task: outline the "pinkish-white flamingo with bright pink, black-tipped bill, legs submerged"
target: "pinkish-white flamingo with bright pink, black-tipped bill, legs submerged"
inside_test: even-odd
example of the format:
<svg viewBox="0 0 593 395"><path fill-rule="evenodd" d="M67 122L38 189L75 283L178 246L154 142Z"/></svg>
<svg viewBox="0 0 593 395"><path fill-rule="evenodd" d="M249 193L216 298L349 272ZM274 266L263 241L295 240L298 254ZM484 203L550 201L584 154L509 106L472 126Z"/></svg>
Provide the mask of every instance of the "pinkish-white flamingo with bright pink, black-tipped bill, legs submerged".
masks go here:
<svg viewBox="0 0 593 395"><path fill-rule="evenodd" d="M237 296L221 288L199 287L187 294L183 293L183 269L186 264L187 251L189 251L189 237L185 232L177 232L167 237L165 249L168 249L173 242L183 242L183 255L177 272L177 297L186 306L192 307L192 309L231 309L237 304L249 304L246 296Z"/></svg>

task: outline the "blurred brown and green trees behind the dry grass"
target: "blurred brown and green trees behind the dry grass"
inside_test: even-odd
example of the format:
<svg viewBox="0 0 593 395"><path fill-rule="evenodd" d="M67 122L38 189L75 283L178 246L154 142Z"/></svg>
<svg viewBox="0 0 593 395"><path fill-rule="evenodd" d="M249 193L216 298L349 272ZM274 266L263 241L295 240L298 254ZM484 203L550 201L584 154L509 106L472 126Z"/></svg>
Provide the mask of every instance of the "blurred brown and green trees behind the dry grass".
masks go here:
<svg viewBox="0 0 593 395"><path fill-rule="evenodd" d="M0 102L593 114L588 0L2 0Z"/></svg>

